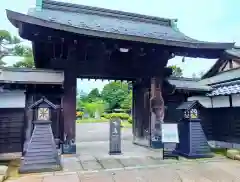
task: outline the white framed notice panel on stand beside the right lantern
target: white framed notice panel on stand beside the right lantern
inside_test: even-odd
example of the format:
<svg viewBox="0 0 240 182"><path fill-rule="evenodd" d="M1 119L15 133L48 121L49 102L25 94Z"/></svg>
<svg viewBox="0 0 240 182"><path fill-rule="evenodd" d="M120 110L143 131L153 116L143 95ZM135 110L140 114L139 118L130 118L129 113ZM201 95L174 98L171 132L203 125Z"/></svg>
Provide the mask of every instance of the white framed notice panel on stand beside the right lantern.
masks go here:
<svg viewBox="0 0 240 182"><path fill-rule="evenodd" d="M162 142L163 143L179 143L178 125L177 124L162 124Z"/></svg>

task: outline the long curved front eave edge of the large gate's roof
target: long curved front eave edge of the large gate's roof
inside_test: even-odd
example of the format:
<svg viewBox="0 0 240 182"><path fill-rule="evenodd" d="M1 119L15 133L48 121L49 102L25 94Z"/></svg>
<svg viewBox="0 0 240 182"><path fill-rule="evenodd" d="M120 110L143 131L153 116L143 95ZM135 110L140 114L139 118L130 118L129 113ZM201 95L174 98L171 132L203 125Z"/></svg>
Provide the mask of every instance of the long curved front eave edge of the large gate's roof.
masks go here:
<svg viewBox="0 0 240 182"><path fill-rule="evenodd" d="M19 23L28 23L28 24L38 25L38 26L52 28L56 30L77 33L81 35L120 39L120 40L127 40L127 41L145 42L145 43L174 46L174 47L185 47L185 48L191 48L191 49L225 50L225 49L230 49L234 46L234 43L175 41L175 40L164 40L164 39L154 39L154 38L148 38L148 37L123 35L123 34L117 34L117 33L108 33L108 32L95 31L95 30L89 30L89 29L83 29L83 28L80 29L78 27L74 27L66 24L60 24L58 22L53 22L53 21L47 21L47 20L39 19L33 16L17 13L10 10L6 10L6 12L10 22L17 28L19 28L18 27Z"/></svg>

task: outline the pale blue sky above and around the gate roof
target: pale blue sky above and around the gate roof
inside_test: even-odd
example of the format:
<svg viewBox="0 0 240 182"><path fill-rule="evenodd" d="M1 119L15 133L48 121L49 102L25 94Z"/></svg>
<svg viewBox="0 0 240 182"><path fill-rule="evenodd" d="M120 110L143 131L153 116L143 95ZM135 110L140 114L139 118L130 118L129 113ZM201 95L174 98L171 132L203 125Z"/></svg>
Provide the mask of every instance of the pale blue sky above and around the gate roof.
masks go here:
<svg viewBox="0 0 240 182"><path fill-rule="evenodd" d="M240 16L238 0L57 0L76 4L97 6L145 15L178 19L178 28L189 37L213 42L236 42L240 45ZM5 9L27 13L35 6L35 0L2 0L0 6L0 29L18 35L17 29L6 17ZM29 44L29 42L25 42ZM17 57L5 58L8 65L18 61ZM184 77L193 73L206 72L216 60L176 57L169 65L182 68ZM78 90L89 92L98 87L100 90L107 82L78 80Z"/></svg>

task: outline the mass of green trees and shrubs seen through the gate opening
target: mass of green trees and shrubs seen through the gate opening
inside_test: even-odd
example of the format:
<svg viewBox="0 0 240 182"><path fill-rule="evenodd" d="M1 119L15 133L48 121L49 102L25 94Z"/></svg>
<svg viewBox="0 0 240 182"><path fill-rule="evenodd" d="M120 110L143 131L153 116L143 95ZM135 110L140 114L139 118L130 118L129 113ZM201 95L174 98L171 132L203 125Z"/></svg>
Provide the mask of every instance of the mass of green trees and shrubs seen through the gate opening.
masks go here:
<svg viewBox="0 0 240 182"><path fill-rule="evenodd" d="M124 82L110 82L106 84L100 93L98 89L92 89L89 94L79 92L77 96L77 110L87 112L90 117L95 113L112 112L115 109L131 110L132 92L129 85Z"/></svg>

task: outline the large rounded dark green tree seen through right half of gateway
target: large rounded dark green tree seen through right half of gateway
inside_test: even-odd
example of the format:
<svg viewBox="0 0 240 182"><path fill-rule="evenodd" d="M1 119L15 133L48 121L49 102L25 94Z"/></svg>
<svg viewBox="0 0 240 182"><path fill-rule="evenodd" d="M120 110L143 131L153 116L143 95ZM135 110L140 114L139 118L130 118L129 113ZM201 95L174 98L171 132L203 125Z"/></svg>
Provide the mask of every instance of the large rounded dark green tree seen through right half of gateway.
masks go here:
<svg viewBox="0 0 240 182"><path fill-rule="evenodd" d="M128 84L116 81L106 84L102 90L102 99L108 104L109 109L119 109L122 102L128 97Z"/></svg>

